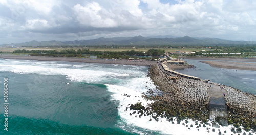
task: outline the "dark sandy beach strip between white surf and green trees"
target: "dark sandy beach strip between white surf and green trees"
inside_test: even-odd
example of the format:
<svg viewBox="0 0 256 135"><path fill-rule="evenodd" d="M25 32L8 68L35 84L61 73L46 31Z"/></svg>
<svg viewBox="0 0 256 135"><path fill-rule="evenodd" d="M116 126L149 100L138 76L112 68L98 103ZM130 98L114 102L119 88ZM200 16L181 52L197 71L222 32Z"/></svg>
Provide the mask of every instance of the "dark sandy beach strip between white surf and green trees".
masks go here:
<svg viewBox="0 0 256 135"><path fill-rule="evenodd" d="M68 61L68 62L84 62L84 63L102 63L102 64L120 64L120 65L137 65L137 66L150 66L156 64L156 61L150 60L110 60L110 59L92 59L92 58L68 58L68 57L38 57L38 56L24 56L1 54L0 58L3 59L21 59L21 60L39 60L39 61Z"/></svg>

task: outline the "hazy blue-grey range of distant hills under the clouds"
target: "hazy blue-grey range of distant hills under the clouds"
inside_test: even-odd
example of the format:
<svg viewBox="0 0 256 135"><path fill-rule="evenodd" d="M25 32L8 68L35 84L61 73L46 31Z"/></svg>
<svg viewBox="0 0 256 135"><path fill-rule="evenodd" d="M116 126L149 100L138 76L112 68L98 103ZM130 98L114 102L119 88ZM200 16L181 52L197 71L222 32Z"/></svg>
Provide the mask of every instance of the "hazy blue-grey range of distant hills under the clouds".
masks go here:
<svg viewBox="0 0 256 135"><path fill-rule="evenodd" d="M162 37L162 38L160 38ZM167 38L169 37L169 38ZM154 37L113 37L105 38L100 37L90 40L75 40L75 41L30 41L24 43L16 43L14 46L61 46L61 45L243 45L243 44L256 44L255 42L247 41L230 41L218 38L193 38L189 36L172 37L154 36Z"/></svg>

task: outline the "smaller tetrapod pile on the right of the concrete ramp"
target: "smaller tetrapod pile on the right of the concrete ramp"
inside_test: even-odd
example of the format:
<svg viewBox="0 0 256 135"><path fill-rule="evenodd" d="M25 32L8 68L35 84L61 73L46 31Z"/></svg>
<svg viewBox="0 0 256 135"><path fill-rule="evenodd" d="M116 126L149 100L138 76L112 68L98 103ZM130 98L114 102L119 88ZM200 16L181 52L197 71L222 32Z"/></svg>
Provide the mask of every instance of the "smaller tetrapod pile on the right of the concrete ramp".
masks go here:
<svg viewBox="0 0 256 135"><path fill-rule="evenodd" d="M224 99L228 107L229 124L237 128L243 125L244 130L256 130L256 96L239 89L223 85L226 90Z"/></svg>

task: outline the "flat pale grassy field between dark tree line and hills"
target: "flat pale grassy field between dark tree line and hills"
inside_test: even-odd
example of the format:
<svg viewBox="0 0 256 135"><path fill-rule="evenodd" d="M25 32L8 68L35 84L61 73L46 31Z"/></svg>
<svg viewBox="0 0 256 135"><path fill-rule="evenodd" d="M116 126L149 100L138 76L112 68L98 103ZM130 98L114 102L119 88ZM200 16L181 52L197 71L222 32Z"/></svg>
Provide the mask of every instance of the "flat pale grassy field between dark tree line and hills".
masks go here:
<svg viewBox="0 0 256 135"><path fill-rule="evenodd" d="M0 48L0 51L2 52L12 52L14 50L65 50L65 49L83 49L83 48ZM87 48L88 49L88 48ZM97 51L131 51L131 50L135 50L135 51L143 51L146 52L148 51L148 49L151 48L89 48L90 51L93 50L97 50ZM165 52L176 52L176 51L181 51L181 52L191 52L191 51L202 51L201 49L197 49L197 48L154 48L154 49L161 49L161 50L165 50Z"/></svg>

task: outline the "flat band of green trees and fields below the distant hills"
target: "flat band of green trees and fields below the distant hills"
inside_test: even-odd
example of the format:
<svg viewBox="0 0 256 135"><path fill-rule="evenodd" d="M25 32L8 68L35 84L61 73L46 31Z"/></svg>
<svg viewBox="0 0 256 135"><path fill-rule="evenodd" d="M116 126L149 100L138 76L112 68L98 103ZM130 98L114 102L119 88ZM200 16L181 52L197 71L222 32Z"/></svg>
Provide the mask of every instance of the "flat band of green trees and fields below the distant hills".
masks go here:
<svg viewBox="0 0 256 135"><path fill-rule="evenodd" d="M63 48L65 47L65 48ZM102 45L102 46L61 46L51 48L26 48L26 50L16 50L17 48L2 48L2 53L13 52L15 54L23 53L33 56L57 56L57 57L84 57L82 54L97 55L97 58L139 58L138 56L162 56L164 52L174 53L176 51L196 52L186 54L189 57L256 57L255 45L242 46L177 46L177 45L162 45L162 46L119 46L119 45ZM204 51L203 51L204 50ZM50 55L51 54L51 55ZM65 55L73 54L73 55ZM177 58L177 55L170 57ZM145 57L145 59L150 59Z"/></svg>

